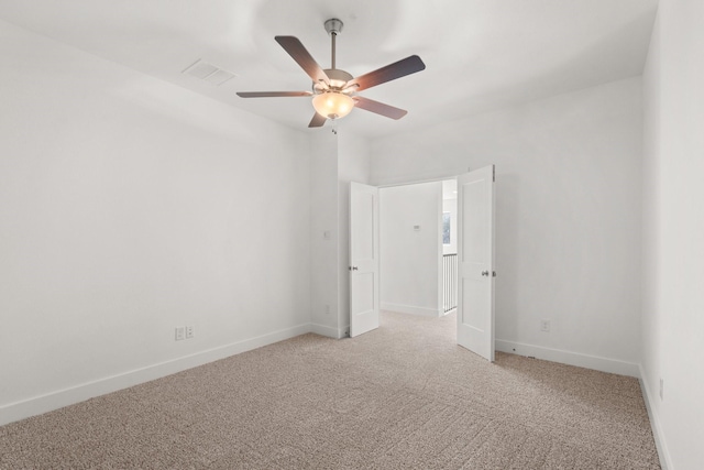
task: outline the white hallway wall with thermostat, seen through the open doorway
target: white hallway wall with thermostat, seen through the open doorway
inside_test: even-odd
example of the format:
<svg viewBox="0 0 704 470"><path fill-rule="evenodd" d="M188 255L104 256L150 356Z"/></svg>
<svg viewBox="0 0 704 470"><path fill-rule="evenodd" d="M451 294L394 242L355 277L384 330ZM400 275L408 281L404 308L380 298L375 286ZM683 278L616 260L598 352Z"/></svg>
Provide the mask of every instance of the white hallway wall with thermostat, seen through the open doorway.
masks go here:
<svg viewBox="0 0 704 470"><path fill-rule="evenodd" d="M441 208L441 182L380 190L382 309L442 315Z"/></svg>

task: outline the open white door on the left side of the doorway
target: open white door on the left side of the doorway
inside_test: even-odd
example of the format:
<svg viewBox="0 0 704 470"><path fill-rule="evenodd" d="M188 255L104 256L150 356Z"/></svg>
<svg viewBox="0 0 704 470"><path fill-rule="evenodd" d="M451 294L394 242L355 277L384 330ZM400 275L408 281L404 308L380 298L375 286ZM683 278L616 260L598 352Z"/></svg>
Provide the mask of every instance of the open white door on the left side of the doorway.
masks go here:
<svg viewBox="0 0 704 470"><path fill-rule="evenodd" d="M378 328L378 188L350 184L350 337Z"/></svg>

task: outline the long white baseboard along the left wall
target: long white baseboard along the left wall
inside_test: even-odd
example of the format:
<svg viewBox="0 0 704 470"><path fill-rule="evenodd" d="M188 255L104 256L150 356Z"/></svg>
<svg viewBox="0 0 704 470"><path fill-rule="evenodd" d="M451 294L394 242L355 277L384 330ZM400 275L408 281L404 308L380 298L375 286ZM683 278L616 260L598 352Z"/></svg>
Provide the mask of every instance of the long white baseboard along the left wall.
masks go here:
<svg viewBox="0 0 704 470"><path fill-rule="evenodd" d="M304 324L0 406L0 426L310 332Z"/></svg>

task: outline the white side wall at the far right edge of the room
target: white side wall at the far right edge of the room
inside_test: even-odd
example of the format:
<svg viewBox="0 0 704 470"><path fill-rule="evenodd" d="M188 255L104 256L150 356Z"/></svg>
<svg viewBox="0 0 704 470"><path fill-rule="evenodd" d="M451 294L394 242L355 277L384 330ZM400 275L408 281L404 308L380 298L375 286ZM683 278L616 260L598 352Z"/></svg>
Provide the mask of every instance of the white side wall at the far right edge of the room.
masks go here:
<svg viewBox="0 0 704 470"><path fill-rule="evenodd" d="M644 73L642 379L671 469L704 462L703 21L660 1Z"/></svg>

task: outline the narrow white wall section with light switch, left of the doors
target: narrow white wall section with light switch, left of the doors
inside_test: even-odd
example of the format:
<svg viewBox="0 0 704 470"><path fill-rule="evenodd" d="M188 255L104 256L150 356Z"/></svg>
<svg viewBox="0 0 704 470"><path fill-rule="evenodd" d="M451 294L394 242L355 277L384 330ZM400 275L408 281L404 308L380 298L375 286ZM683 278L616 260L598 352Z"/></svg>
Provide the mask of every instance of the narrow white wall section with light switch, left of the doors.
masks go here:
<svg viewBox="0 0 704 470"><path fill-rule="evenodd" d="M310 163L312 330L340 338L338 136L329 129L312 133Z"/></svg>

